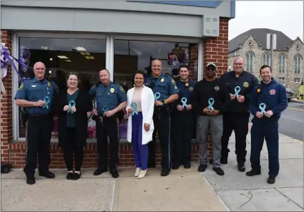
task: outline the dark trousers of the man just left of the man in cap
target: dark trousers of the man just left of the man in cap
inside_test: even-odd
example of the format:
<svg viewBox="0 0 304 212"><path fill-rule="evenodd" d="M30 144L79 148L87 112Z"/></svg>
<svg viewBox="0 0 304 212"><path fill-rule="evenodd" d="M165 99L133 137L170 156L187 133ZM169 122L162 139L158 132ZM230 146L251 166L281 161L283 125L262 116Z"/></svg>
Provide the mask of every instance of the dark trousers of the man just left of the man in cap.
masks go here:
<svg viewBox="0 0 304 212"><path fill-rule="evenodd" d="M172 126L174 134L173 164L187 165L190 164L191 140L193 134L192 111L174 112L172 114Z"/></svg>

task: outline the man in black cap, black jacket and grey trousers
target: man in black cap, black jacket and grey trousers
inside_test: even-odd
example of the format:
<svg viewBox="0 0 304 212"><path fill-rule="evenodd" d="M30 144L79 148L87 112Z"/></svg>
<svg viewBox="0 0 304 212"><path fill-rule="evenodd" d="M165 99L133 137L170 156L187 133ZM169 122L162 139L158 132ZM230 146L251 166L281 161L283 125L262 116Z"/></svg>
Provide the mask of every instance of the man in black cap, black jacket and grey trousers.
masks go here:
<svg viewBox="0 0 304 212"><path fill-rule="evenodd" d="M198 171L207 168L207 138L209 125L213 142L213 170L219 176L224 175L221 169L221 136L223 134L223 111L230 103L230 95L225 84L216 78L216 65L208 63L206 77L196 83L192 92L192 105L198 115L199 160Z"/></svg>

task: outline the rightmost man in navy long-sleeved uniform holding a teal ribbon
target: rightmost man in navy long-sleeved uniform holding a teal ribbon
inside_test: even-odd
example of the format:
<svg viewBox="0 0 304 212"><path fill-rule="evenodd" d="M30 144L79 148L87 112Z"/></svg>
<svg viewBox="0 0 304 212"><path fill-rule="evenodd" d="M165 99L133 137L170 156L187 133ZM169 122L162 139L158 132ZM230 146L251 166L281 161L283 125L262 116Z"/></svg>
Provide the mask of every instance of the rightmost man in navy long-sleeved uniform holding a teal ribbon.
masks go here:
<svg viewBox="0 0 304 212"><path fill-rule="evenodd" d="M281 113L287 108L285 87L272 78L272 69L263 65L260 69L261 85L252 90L250 99L250 112L254 115L251 129L251 154L252 170L247 176L261 174L260 156L264 138L267 143L269 178L267 182L274 184L278 175L278 120Z"/></svg>

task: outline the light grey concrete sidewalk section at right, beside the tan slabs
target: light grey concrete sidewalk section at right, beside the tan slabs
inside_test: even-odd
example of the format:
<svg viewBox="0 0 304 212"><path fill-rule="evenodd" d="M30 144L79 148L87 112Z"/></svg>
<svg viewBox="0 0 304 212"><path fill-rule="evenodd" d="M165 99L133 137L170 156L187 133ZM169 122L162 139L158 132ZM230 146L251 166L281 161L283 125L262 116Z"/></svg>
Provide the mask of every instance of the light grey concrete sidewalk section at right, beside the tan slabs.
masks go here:
<svg viewBox="0 0 304 212"><path fill-rule="evenodd" d="M203 177L212 185L230 211L303 211L303 141L280 135L280 171L275 184L267 184L268 153L261 152L261 176L248 177L237 170L234 134L230 138L225 176L208 166ZM247 135L246 171L250 171L250 133Z"/></svg>

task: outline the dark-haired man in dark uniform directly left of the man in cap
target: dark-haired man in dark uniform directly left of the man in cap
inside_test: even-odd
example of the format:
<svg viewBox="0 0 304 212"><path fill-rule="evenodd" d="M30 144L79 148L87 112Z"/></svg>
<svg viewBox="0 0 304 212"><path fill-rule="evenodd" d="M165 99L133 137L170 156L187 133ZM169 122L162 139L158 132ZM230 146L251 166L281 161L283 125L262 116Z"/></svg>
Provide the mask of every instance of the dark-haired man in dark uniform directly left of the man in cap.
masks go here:
<svg viewBox="0 0 304 212"><path fill-rule="evenodd" d="M190 72L186 65L179 67L179 81L176 87L179 89L179 100L172 103L172 126L174 134L174 151L172 169L179 169L181 163L185 169L190 166L191 140L194 129L194 112L192 110L191 94L194 82L189 81Z"/></svg>

